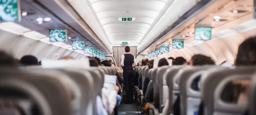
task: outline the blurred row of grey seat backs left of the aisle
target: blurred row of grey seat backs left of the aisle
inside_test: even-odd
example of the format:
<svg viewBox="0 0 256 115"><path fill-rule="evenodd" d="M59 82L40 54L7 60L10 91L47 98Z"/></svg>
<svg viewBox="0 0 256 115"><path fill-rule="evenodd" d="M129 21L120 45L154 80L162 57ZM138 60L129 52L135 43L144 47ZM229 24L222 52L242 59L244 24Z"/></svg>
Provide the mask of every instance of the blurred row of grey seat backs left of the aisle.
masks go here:
<svg viewBox="0 0 256 115"><path fill-rule="evenodd" d="M105 74L116 70L0 68L0 114L96 115Z"/></svg>

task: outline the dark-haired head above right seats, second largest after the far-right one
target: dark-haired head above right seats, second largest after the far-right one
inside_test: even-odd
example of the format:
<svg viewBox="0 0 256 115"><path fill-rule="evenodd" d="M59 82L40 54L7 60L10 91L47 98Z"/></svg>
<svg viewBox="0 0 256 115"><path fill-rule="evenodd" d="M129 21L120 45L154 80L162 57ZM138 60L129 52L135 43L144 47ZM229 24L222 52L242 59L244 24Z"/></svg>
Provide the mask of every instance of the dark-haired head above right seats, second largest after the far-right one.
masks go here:
<svg viewBox="0 0 256 115"><path fill-rule="evenodd" d="M190 65L213 65L215 64L215 62L210 57L197 54L191 58L189 64Z"/></svg>

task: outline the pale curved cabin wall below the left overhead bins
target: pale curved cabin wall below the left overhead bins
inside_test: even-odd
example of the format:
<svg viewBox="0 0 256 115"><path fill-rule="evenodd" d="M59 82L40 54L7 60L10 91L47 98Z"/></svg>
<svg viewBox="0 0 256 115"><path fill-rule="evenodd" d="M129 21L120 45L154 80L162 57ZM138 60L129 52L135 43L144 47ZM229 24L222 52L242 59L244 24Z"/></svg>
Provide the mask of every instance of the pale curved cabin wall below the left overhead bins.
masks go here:
<svg viewBox="0 0 256 115"><path fill-rule="evenodd" d="M34 55L38 60L42 58L57 59L64 56L73 58L86 57L84 54L57 46L55 43L43 42L40 40L42 36L27 36L25 33L18 34L17 32L19 31L15 31L15 27L13 27L13 32L9 30L0 28L0 50L12 54L14 58L20 59L24 55Z"/></svg>

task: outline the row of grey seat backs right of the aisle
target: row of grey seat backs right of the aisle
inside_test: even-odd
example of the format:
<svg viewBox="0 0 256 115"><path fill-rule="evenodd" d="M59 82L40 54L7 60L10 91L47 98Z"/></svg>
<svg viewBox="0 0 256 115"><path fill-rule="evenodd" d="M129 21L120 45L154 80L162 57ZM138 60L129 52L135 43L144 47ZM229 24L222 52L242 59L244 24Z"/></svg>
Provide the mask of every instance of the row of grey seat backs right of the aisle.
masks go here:
<svg viewBox="0 0 256 115"><path fill-rule="evenodd" d="M255 66L180 65L150 70L144 66L134 71L141 75L142 83L145 77L153 81L150 114L243 115L248 110L256 114Z"/></svg>

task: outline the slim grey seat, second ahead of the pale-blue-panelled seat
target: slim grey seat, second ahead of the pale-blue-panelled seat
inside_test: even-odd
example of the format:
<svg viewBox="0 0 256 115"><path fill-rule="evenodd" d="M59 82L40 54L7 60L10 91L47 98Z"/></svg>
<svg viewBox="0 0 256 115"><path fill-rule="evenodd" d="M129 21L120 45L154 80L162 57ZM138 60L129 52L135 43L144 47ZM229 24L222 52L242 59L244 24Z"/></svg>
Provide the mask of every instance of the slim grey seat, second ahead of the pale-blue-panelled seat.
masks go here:
<svg viewBox="0 0 256 115"><path fill-rule="evenodd" d="M159 104L159 113L162 113L162 109L164 107L163 103L163 76L165 75L165 72L172 68L172 66L162 66L157 69L157 79L156 79L156 88L157 88L157 94L158 99L154 100L154 103Z"/></svg>

